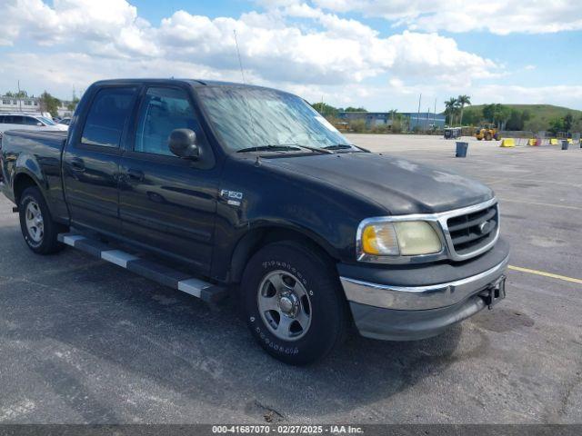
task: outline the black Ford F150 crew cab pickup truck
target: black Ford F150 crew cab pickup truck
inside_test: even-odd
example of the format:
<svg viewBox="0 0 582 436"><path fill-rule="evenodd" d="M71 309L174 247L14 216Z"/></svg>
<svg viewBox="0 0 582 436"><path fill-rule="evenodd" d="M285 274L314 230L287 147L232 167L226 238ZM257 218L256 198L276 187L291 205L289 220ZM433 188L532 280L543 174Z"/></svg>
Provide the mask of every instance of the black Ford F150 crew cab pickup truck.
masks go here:
<svg viewBox="0 0 582 436"><path fill-rule="evenodd" d="M487 186L350 144L273 89L98 82L68 134L6 132L2 171L35 253L68 244L207 300L236 293L284 362L322 358L351 325L430 337L505 296Z"/></svg>

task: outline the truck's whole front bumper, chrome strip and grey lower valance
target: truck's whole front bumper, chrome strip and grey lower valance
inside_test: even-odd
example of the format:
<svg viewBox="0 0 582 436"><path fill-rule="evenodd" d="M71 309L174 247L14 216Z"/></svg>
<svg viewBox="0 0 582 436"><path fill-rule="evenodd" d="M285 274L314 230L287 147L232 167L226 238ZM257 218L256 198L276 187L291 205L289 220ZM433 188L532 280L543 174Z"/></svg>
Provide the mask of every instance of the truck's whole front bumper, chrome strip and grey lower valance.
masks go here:
<svg viewBox="0 0 582 436"><path fill-rule="evenodd" d="M340 265L338 270L359 332L375 339L409 341L435 336L487 307L479 293L502 284L508 254L507 243L500 240L491 252L456 267L454 273L447 264L415 267L408 269L406 282L402 282L406 272L402 268L394 273L366 272L381 282L346 277L344 273L359 271L356 275L361 276L365 271L362 267L355 270ZM389 284L390 276L399 283ZM441 280L428 284L427 276ZM447 276L450 280L442 280Z"/></svg>

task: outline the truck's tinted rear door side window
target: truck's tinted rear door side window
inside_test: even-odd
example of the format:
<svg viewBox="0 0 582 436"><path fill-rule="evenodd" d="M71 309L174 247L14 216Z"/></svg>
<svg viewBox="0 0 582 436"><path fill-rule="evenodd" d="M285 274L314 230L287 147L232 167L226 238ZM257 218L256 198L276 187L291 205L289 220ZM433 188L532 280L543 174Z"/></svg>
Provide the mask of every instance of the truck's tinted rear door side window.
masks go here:
<svg viewBox="0 0 582 436"><path fill-rule="evenodd" d="M85 121L81 142L118 148L131 113L135 88L105 88L95 95Z"/></svg>

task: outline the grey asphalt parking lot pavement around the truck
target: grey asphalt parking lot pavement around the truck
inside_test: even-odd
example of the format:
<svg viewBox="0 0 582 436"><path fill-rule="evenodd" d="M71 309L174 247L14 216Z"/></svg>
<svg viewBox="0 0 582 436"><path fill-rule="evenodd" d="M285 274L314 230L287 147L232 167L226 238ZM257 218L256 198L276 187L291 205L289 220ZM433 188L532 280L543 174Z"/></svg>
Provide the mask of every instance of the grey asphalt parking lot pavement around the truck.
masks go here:
<svg viewBox="0 0 582 436"><path fill-rule="evenodd" d="M507 299L419 342L357 335L324 362L270 358L237 315L73 249L37 256L0 198L0 422L582 423L582 149L466 159L436 137L352 135L500 199ZM550 277L556 274L560 277ZM570 279L570 280L568 280Z"/></svg>

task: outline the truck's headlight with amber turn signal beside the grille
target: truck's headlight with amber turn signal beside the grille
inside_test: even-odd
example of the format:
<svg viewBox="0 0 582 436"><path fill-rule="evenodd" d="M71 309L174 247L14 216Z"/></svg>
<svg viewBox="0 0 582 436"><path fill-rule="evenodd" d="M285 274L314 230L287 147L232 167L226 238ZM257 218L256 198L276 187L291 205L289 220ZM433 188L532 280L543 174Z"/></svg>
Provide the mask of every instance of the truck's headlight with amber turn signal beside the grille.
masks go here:
<svg viewBox="0 0 582 436"><path fill-rule="evenodd" d="M416 256L439 253L443 248L433 226L424 221L367 223L359 245L372 256Z"/></svg>

